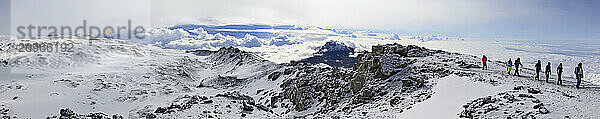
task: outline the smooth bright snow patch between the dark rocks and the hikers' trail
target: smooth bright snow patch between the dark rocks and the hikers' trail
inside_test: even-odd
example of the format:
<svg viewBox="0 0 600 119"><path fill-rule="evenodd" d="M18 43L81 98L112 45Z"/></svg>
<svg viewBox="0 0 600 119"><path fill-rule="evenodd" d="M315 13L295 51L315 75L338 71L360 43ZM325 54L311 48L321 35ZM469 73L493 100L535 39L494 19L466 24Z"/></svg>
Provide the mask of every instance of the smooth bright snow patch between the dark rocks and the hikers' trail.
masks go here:
<svg viewBox="0 0 600 119"><path fill-rule="evenodd" d="M450 75L441 78L433 88L435 94L412 109L400 114L402 119L447 119L458 118L462 105L477 97L496 94L505 87L488 83L471 82L464 77Z"/></svg>

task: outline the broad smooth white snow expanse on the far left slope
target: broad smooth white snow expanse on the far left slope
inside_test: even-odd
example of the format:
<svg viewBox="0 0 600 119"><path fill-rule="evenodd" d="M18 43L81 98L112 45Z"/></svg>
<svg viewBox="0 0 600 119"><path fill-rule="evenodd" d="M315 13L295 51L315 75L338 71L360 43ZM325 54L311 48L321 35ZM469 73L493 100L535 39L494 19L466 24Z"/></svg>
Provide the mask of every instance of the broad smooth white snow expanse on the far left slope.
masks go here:
<svg viewBox="0 0 600 119"><path fill-rule="evenodd" d="M126 114L138 104L167 102L171 97L155 96L139 102L118 102L115 98L123 96L119 91L92 90L98 86L95 81L106 81L106 76L114 78L108 77L110 82L130 85L125 89L135 90L141 82L153 82L141 78L151 71L146 66L169 62L177 57L193 56L182 51L157 49L122 40L104 39L91 45L83 39L50 41L73 41L76 47L74 52L64 53L3 54L7 56L3 59L10 59L11 73L8 77L3 74L1 78L0 90L3 91L0 93L0 103L10 107L18 117L46 118L60 108ZM17 85L23 88L6 89Z"/></svg>

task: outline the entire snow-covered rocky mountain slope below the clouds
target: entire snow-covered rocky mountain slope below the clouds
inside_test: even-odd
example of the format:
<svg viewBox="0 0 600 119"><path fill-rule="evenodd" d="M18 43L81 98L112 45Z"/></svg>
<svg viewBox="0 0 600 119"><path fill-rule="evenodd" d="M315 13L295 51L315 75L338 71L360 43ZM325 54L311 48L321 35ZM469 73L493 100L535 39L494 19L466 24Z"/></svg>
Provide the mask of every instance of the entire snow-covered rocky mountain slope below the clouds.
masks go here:
<svg viewBox="0 0 600 119"><path fill-rule="evenodd" d="M600 116L592 83L575 89L570 77L566 86L533 81L527 68L523 77L507 75L499 61L481 71L478 57L415 45L376 45L345 68L277 64L232 47L182 51L114 39L57 40L74 42L76 50L2 55L11 69L23 70L0 81L0 116L398 118L437 95L437 83L451 75L507 89L464 102L456 118Z"/></svg>

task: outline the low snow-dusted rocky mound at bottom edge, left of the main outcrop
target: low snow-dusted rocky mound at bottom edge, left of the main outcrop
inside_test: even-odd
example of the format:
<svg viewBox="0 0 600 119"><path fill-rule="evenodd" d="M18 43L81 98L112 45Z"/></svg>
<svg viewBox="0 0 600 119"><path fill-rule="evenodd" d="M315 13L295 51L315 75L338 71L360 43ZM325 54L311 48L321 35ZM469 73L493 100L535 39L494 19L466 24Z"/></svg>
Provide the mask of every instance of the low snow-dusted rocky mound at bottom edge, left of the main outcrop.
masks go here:
<svg viewBox="0 0 600 119"><path fill-rule="evenodd" d="M241 114L240 114L241 113ZM232 118L251 113L261 117L274 116L273 111L240 92L225 92L213 96L184 95L175 98L169 106L138 110L135 118Z"/></svg>

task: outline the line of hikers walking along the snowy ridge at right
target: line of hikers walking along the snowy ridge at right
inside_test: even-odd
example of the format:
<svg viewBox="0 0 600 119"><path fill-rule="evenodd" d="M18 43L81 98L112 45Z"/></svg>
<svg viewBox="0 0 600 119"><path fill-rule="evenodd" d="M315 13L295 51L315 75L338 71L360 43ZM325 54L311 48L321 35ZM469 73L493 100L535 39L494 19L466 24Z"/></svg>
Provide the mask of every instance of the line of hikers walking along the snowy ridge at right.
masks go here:
<svg viewBox="0 0 600 119"><path fill-rule="evenodd" d="M485 55L483 55L483 58L481 58L481 61L483 62L483 70L487 70L487 57ZM579 63L577 64L577 67L575 67L575 79L577 80L577 88L580 88L581 85L581 79L583 78L583 64ZM546 74L546 82L549 82L548 79L550 78L550 73L552 72L552 68L551 68L551 63L548 62L548 64L546 65L546 70L544 71L544 74ZM511 75L511 70L514 67L515 72L513 75L515 76L520 76L519 74L519 67L523 67L523 64L521 63L521 58L517 58L515 60L515 62L513 63L512 59L508 59L508 61L506 62L506 70L508 71L508 74ZM542 71L542 61L538 60L537 64L535 64L535 80L540 80L540 71ZM557 85L562 85L562 73L563 73L563 66L562 63L560 63L558 65L558 67L556 68L556 73L557 73L557 81L556 84Z"/></svg>

